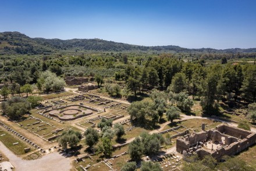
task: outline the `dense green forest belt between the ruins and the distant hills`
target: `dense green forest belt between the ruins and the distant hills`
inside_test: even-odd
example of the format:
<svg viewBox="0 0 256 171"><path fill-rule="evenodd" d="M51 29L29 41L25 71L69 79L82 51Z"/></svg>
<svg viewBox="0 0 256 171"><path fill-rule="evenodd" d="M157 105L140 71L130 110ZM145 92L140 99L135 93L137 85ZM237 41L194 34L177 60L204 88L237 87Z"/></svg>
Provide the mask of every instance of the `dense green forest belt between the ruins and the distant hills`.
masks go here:
<svg viewBox="0 0 256 171"><path fill-rule="evenodd" d="M114 89L120 90L118 83L124 86L120 93L123 95L137 96L144 90L156 88L174 93L169 95L174 99L179 99L178 96L199 98L205 111L215 113L216 101L256 100L255 59L205 60L202 56L211 54L190 58L179 55L112 52L80 56L2 56L0 79L16 94L26 85L44 92L58 91L65 85L63 78L66 76L86 76L98 83L104 80L108 85L106 90L112 95L120 93L114 92Z"/></svg>

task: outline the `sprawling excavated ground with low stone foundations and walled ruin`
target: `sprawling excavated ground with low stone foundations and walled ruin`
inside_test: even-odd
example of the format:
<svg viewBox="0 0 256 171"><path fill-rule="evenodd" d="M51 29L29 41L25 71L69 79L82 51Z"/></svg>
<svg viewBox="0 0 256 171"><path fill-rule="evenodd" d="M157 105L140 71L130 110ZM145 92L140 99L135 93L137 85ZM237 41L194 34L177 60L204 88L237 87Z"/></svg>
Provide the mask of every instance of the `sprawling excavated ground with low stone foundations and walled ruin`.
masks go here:
<svg viewBox="0 0 256 171"><path fill-rule="evenodd" d="M136 119L130 119L127 112L129 105L127 101L92 93L63 93L63 96L45 97L31 114L20 121L8 121L8 118L1 116L0 140L14 154L29 160L52 153L64 155L79 171L120 170L124 163L130 161L129 144L143 132L161 134L165 139L159 155L142 158L143 161L159 163L164 171L181 169L184 160L193 154L200 158L212 155L219 160L223 155L235 155L256 142L255 133L214 119L182 116L172 125L164 115L165 122L157 125L157 129L149 128ZM101 133L97 125L102 118L112 119L113 125L119 123L125 129L122 140L111 140L113 153L110 158L101 159L97 153L89 155L84 139L78 145L77 154L62 150L58 138L63 132L72 129L83 134L88 128L93 128Z"/></svg>

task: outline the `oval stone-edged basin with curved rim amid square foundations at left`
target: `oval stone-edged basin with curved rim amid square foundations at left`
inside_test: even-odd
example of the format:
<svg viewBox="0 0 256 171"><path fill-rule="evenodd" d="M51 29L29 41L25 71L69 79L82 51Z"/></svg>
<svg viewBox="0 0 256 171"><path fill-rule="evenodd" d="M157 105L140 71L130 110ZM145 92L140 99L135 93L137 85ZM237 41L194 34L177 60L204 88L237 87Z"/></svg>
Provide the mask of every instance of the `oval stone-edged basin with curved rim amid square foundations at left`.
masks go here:
<svg viewBox="0 0 256 171"><path fill-rule="evenodd" d="M93 114L93 109L83 105L69 105L45 111L51 117L56 117L61 121L72 121L77 118Z"/></svg>

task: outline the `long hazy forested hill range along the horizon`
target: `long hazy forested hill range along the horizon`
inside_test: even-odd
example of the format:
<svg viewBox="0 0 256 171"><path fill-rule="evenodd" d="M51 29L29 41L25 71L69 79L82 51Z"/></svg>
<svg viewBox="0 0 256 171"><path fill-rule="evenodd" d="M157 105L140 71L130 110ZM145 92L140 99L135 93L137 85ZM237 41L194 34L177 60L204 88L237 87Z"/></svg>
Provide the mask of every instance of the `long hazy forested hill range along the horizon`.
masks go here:
<svg viewBox="0 0 256 171"><path fill-rule="evenodd" d="M117 43L104 41L102 39L44 39L30 38L20 32L0 32L0 54L50 54L65 50L95 50L95 51L131 51L131 50L155 50L171 51L173 53L237 53L256 52L256 48L251 49L187 49L180 46L138 46L127 43Z"/></svg>

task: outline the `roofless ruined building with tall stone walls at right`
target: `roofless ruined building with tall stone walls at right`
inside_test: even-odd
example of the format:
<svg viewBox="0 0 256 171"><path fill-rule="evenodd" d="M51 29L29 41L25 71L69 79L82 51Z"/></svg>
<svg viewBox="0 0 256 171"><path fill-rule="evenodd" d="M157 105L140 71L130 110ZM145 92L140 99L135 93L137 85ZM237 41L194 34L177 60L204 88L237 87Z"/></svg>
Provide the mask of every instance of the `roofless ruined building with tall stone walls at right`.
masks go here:
<svg viewBox="0 0 256 171"><path fill-rule="evenodd" d="M256 143L256 133L240 128L234 128L225 124L216 126L215 129L204 130L193 134L187 134L176 140L177 152L183 154L183 159L197 154L204 158L212 155L218 161L224 155L234 155Z"/></svg>

